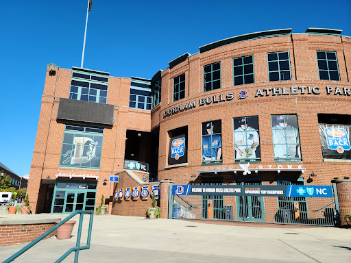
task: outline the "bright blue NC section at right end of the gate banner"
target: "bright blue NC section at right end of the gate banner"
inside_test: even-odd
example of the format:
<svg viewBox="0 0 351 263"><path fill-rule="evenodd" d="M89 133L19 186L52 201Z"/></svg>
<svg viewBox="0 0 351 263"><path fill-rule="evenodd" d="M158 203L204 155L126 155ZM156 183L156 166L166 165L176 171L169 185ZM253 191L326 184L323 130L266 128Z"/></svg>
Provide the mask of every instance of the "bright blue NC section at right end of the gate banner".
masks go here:
<svg viewBox="0 0 351 263"><path fill-rule="evenodd" d="M287 186L287 197L332 197L332 187Z"/></svg>

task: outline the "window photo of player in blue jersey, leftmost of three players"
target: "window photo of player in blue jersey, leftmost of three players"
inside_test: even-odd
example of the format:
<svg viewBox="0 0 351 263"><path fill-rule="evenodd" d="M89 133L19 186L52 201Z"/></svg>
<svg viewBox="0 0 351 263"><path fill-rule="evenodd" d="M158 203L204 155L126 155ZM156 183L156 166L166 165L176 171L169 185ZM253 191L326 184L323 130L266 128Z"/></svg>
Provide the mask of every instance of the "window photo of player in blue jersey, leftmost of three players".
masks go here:
<svg viewBox="0 0 351 263"><path fill-rule="evenodd" d="M221 121L210 121L208 123L203 123L202 162L221 160L221 147Z"/></svg>

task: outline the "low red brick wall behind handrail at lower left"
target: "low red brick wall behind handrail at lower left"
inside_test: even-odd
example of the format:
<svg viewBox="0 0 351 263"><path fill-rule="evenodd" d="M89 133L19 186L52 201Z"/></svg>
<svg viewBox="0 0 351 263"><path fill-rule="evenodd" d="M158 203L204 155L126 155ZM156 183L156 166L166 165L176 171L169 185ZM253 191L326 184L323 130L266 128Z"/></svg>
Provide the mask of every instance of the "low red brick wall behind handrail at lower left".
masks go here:
<svg viewBox="0 0 351 263"><path fill-rule="evenodd" d="M32 242L55 225L55 223L36 225L0 225L0 247ZM55 235L56 230L46 238L51 238L51 236Z"/></svg>

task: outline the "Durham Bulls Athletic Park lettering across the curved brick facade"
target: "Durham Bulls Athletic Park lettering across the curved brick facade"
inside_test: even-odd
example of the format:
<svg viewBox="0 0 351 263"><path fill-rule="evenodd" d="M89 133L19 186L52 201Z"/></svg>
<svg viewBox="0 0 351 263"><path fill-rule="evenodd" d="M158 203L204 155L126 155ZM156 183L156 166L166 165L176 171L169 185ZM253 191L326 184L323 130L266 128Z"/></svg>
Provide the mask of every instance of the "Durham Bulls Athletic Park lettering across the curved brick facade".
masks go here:
<svg viewBox="0 0 351 263"><path fill-rule="evenodd" d="M339 87L329 87L325 88L326 95L340 95L340 96L350 96L350 88L339 88ZM290 88L280 87L280 88L258 88L256 90L255 98L257 97L269 97L269 96L286 96L286 95L320 95L321 88L319 86L291 86ZM245 99L247 97L246 90L240 90L238 98ZM201 107L203 105L210 105L215 103L223 103L226 101L231 101L234 99L234 93L228 92L226 95L212 95L205 98L199 99L198 105ZM175 114L177 112L183 112L184 110L191 110L196 108L196 101L189 101L183 104L179 104L173 108L165 110L163 116L166 118Z"/></svg>

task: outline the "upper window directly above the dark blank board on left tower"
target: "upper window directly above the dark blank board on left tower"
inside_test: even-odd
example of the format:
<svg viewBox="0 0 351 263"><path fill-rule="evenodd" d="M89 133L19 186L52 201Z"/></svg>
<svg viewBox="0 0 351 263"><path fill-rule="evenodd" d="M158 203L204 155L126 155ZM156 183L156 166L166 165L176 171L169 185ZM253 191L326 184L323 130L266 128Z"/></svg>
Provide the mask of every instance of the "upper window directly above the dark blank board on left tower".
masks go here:
<svg viewBox="0 0 351 263"><path fill-rule="evenodd" d="M69 99L107 103L108 75L72 69Z"/></svg>

